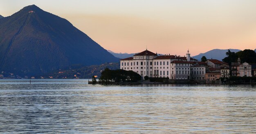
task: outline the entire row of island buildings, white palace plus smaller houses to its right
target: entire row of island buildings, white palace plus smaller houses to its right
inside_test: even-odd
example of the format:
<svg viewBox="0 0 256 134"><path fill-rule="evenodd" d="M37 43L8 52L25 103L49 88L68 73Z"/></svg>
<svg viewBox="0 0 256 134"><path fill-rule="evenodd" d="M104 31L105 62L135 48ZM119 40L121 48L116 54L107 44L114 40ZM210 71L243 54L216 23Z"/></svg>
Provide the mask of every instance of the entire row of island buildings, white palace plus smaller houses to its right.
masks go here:
<svg viewBox="0 0 256 134"><path fill-rule="evenodd" d="M232 76L252 76L252 67L248 63L232 63ZM176 55L157 55L142 51L132 57L120 60L120 69L132 70L142 77L168 78L171 80L218 80L229 78L230 68L227 63L216 59L205 62L191 58L189 51L186 57ZM235 71L236 69L236 71ZM234 72L234 73L233 73ZM236 75L235 75L236 74Z"/></svg>

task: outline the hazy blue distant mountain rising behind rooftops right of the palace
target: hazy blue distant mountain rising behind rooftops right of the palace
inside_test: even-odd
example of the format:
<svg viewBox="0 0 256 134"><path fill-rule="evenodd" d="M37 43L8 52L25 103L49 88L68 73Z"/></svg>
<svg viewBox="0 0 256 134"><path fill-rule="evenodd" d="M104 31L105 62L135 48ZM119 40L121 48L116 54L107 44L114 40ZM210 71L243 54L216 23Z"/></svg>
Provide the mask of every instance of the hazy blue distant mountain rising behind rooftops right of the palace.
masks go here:
<svg viewBox="0 0 256 134"><path fill-rule="evenodd" d="M231 52L238 52L241 51L239 49L229 49ZM201 53L197 56L192 56L195 59L201 60L202 56L205 56L207 59L217 59L222 61L223 58L227 57L226 52L228 51L228 49L212 49L210 51L207 51L205 53Z"/></svg>

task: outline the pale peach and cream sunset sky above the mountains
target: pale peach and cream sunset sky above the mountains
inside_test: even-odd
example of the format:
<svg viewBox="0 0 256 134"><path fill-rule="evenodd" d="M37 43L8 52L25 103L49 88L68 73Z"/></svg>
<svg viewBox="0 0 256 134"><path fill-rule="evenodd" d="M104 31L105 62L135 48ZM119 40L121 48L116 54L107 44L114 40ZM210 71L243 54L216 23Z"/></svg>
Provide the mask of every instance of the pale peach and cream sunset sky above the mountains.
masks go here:
<svg viewBox="0 0 256 134"><path fill-rule="evenodd" d="M31 4L118 53L256 49L256 0L0 0L0 15Z"/></svg>

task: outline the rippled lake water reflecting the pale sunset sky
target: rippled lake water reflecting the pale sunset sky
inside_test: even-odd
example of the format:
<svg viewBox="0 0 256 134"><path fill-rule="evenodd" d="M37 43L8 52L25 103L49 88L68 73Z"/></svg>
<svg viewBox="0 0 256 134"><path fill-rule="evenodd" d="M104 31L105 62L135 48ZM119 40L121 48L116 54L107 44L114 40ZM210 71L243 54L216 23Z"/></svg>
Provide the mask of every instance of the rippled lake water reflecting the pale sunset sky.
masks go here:
<svg viewBox="0 0 256 134"><path fill-rule="evenodd" d="M0 80L0 133L256 133L254 85Z"/></svg>

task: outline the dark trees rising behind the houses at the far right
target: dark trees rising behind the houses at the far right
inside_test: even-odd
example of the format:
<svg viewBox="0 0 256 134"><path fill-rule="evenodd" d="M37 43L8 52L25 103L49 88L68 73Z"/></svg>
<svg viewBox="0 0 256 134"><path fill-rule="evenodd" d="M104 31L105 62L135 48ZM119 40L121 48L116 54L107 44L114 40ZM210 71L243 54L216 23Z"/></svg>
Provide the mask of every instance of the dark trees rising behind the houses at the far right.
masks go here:
<svg viewBox="0 0 256 134"><path fill-rule="evenodd" d="M236 63L238 58L240 58L241 63L256 63L256 52L254 50L245 49L244 51L238 51L236 53L228 50L226 55L227 57L222 59L222 61L229 63L229 65Z"/></svg>

